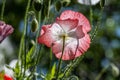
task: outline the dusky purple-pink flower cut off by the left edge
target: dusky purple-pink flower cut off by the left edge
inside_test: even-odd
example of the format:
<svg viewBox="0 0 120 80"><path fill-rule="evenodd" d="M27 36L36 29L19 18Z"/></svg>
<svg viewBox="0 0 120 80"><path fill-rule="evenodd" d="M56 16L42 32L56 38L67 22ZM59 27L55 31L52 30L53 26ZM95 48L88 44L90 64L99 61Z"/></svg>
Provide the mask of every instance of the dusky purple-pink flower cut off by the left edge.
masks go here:
<svg viewBox="0 0 120 80"><path fill-rule="evenodd" d="M11 25L5 24L5 22L0 21L0 43L13 32Z"/></svg>

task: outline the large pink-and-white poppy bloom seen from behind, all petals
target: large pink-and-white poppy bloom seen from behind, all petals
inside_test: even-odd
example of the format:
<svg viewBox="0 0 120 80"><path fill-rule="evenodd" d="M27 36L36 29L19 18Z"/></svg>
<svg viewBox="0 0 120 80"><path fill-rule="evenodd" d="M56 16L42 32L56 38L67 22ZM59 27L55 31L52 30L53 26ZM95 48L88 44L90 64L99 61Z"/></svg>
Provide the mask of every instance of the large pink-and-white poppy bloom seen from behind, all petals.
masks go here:
<svg viewBox="0 0 120 80"><path fill-rule="evenodd" d="M53 24L42 26L38 43L51 47L55 56L60 59L64 36L62 60L71 60L81 56L90 47L90 30L90 23L83 14L66 10Z"/></svg>

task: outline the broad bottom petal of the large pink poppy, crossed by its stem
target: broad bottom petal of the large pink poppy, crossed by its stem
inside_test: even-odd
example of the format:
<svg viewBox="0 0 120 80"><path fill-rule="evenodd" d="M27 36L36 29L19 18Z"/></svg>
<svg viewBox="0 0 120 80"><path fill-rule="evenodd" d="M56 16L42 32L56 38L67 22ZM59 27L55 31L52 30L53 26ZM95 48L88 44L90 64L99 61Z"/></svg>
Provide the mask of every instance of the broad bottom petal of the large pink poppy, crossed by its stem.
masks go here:
<svg viewBox="0 0 120 80"><path fill-rule="evenodd" d="M59 48L56 49L57 46L59 46ZM79 40L75 38L70 38L65 44L62 60L71 60L81 56L85 51L87 51L89 46L90 46L90 37L87 34L85 35L85 37ZM62 55L61 43L59 42L54 44L52 50L55 56L60 59Z"/></svg>

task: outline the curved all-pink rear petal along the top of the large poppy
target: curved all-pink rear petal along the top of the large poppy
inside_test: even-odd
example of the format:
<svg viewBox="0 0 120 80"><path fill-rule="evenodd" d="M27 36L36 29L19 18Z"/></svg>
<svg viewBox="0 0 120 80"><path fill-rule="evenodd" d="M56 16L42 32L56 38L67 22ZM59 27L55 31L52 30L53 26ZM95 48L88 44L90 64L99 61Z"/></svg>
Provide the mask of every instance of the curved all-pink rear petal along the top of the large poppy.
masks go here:
<svg viewBox="0 0 120 80"><path fill-rule="evenodd" d="M78 20L78 26L83 26L87 32L91 30L90 23L88 19L81 13L79 12L74 12L71 10L66 10L62 12L60 15L60 19L66 20L66 19L77 19Z"/></svg>

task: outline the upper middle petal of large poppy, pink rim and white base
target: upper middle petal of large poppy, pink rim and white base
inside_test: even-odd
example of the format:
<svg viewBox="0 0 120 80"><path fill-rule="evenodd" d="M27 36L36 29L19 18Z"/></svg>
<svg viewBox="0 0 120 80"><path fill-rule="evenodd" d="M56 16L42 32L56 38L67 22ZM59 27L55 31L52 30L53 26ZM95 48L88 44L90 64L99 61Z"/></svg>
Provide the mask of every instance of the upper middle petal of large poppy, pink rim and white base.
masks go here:
<svg viewBox="0 0 120 80"><path fill-rule="evenodd" d="M65 32L68 32L78 25L78 20L77 19L66 19L66 20L61 20L57 18L56 22L63 28Z"/></svg>

